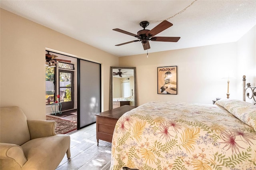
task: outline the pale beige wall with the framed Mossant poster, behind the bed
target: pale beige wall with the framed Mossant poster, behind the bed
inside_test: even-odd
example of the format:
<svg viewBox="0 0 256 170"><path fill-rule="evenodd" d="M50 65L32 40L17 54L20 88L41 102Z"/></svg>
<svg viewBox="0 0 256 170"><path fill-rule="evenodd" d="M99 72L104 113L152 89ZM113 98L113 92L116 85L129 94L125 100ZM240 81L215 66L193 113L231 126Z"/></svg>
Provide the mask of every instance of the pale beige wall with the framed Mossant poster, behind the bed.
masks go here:
<svg viewBox="0 0 256 170"><path fill-rule="evenodd" d="M148 58L146 51L142 55L120 57L119 65L136 67L138 105L154 100L210 104L216 97L226 98L227 80L222 77L228 75L236 77L230 80L230 99L242 100L238 94L238 91L242 93L242 75L247 74L248 79L256 82L255 38L254 26L238 42L157 53L150 53L149 49ZM156 43L150 47L154 48ZM157 67L175 65L178 66L178 95L157 94Z"/></svg>

